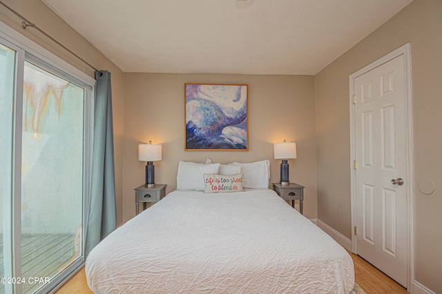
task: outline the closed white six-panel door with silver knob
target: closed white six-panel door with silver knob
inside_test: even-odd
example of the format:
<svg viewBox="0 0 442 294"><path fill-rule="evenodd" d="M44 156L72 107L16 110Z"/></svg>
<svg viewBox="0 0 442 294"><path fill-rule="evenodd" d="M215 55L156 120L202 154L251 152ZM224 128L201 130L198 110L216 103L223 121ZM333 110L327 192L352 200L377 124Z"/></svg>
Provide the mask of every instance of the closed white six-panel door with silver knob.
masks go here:
<svg viewBox="0 0 442 294"><path fill-rule="evenodd" d="M406 81L404 55L354 78L356 253L405 287Z"/></svg>

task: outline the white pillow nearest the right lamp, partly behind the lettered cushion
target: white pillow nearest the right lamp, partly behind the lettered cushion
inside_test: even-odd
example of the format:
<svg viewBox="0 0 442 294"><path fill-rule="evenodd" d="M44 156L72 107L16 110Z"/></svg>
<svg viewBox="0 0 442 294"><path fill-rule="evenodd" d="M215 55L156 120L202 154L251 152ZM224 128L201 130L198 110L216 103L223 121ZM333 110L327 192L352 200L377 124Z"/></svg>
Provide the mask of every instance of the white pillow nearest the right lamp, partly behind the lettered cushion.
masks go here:
<svg viewBox="0 0 442 294"><path fill-rule="evenodd" d="M268 159L251 163L232 162L230 165L241 166L242 186L244 188L269 188L270 161Z"/></svg>

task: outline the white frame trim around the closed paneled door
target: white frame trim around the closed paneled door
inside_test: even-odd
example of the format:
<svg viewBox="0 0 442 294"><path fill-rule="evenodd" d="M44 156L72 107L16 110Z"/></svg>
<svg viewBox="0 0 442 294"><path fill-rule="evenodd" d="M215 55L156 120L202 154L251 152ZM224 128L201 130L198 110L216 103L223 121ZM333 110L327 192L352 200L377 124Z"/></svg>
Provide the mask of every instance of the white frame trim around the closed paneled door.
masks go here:
<svg viewBox="0 0 442 294"><path fill-rule="evenodd" d="M354 169L354 160L356 160L356 130L355 130L355 111L353 104L354 96L354 79L365 72L381 66L398 56L403 55L405 67L405 128L406 128L406 173L408 181L405 183L407 193L407 289L412 288L414 279L413 260L414 260L414 216L413 216L413 112L412 112L412 76L411 76L411 44L406 43L400 48L390 52L380 59L370 63L368 66L349 75L349 110L350 110L350 182L351 182L351 207L352 207L352 253L357 254L356 235L354 235L354 227L356 226L356 170Z"/></svg>

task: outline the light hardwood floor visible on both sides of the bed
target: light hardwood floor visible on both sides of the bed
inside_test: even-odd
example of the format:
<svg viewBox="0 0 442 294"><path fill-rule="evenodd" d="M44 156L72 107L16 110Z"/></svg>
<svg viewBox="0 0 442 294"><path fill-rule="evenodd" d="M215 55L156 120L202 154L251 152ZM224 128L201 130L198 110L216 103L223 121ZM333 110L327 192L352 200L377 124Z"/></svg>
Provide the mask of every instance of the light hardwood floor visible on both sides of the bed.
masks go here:
<svg viewBox="0 0 442 294"><path fill-rule="evenodd" d="M394 282L387 275L379 271L358 255L352 255L354 263L354 272L356 274L356 283L363 288L366 294L378 293L408 293L403 286ZM64 293L93 293L88 288L86 282L86 274L84 268L81 268L64 286L62 286L56 294Z"/></svg>

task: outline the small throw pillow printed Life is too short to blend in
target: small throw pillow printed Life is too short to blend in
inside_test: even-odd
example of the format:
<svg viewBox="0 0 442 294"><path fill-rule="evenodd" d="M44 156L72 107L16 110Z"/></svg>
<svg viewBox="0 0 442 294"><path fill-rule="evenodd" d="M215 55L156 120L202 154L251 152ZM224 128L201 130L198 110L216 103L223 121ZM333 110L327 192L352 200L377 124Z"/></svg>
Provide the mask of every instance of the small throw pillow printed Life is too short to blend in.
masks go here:
<svg viewBox="0 0 442 294"><path fill-rule="evenodd" d="M215 175L205 174L204 193L232 193L242 192L242 174L239 175Z"/></svg>

